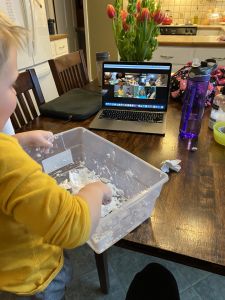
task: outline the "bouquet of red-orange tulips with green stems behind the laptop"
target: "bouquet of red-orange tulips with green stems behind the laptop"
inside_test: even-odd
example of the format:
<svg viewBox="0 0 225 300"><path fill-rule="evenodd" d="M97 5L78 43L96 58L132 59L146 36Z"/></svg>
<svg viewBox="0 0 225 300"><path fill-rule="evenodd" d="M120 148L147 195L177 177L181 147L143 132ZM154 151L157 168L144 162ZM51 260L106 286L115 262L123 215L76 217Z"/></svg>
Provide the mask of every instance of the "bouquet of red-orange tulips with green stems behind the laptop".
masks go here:
<svg viewBox="0 0 225 300"><path fill-rule="evenodd" d="M158 45L158 25L165 17L160 2L128 0L125 10L123 0L115 0L114 5L107 5L107 14L112 19L121 61L150 60Z"/></svg>

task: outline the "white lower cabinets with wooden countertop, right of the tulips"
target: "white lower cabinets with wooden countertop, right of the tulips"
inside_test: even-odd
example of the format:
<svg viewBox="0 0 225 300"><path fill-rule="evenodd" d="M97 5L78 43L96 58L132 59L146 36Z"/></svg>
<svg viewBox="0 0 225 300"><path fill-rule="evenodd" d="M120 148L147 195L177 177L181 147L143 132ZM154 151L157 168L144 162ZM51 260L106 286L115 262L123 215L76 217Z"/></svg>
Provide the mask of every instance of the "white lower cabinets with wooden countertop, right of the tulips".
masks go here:
<svg viewBox="0 0 225 300"><path fill-rule="evenodd" d="M172 63L176 72L193 58L216 59L219 65L225 65L225 41L218 36L224 35L222 26L198 26L197 35L159 35L159 46L153 53L152 61Z"/></svg>

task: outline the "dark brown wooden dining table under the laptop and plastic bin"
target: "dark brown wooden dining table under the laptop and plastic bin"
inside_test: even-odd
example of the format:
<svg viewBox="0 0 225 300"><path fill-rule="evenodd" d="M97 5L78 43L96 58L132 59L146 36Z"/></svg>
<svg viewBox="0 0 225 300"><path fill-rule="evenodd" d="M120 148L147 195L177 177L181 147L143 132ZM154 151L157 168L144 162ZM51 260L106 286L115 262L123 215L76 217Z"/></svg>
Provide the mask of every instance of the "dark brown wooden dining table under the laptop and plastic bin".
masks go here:
<svg viewBox="0 0 225 300"><path fill-rule="evenodd" d="M116 245L225 275L225 147L214 141L208 129L209 112L205 112L195 152L178 139L181 104L174 101L169 104L165 137L94 132L158 168L163 160L182 160L181 171L169 175L151 218ZM91 119L65 122L39 117L30 129L57 133L77 126L87 128ZM106 254L96 255L105 293L109 289Z"/></svg>

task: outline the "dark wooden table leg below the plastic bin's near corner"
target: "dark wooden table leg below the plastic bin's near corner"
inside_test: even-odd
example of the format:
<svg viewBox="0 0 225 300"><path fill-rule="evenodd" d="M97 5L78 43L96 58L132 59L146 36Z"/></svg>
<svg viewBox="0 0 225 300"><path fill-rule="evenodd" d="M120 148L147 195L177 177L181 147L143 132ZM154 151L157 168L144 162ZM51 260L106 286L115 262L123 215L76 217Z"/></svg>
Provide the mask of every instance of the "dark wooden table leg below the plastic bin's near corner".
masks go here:
<svg viewBox="0 0 225 300"><path fill-rule="evenodd" d="M95 261L98 270L98 277L100 281L100 287L104 294L108 294L110 284L109 284L109 271L107 262L107 252L101 254L95 253Z"/></svg>

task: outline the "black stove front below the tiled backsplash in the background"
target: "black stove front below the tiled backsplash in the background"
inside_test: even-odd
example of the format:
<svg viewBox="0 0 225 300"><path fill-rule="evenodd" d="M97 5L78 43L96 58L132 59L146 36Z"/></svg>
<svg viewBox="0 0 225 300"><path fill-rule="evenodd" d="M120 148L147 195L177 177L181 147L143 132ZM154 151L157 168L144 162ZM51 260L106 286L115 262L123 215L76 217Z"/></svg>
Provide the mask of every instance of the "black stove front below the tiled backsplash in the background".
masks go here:
<svg viewBox="0 0 225 300"><path fill-rule="evenodd" d="M160 26L161 35L196 35L197 26L178 25L178 26Z"/></svg>

